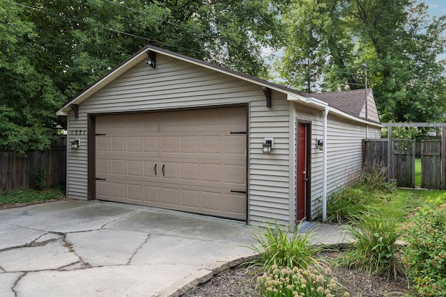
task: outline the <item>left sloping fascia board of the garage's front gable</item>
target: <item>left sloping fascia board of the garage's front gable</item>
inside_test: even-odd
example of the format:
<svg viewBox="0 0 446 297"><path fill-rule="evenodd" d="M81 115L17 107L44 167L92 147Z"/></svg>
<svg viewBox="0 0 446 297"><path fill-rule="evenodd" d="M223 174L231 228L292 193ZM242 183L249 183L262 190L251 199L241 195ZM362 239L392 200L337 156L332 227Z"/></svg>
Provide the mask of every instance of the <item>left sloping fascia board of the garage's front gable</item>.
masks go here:
<svg viewBox="0 0 446 297"><path fill-rule="evenodd" d="M112 82L116 77L119 77L121 74L129 70L131 67L141 62L146 58L146 51L141 51L137 56L134 56L129 61L125 62L121 67L116 68L105 77L102 77L99 81L96 81L93 86L89 86L84 92L80 93L75 99L68 102L65 106L63 106L59 111L56 111L56 115L68 115L68 112L71 110L71 104L81 104L86 99L88 99L91 95L98 92L98 90L107 86L108 83Z"/></svg>

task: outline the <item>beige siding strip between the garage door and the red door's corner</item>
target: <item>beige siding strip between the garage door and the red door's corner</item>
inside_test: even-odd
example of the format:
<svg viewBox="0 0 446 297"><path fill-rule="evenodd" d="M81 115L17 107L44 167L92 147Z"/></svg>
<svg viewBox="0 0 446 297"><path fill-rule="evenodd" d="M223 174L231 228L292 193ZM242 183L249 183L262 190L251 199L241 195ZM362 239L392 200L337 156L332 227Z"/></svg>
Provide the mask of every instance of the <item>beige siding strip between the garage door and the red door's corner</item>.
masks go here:
<svg viewBox="0 0 446 297"><path fill-rule="evenodd" d="M272 107L263 100L249 109L249 223L261 225L275 218L289 225L289 102L272 92ZM264 138L274 138L271 154L262 153ZM292 201L292 200L291 200Z"/></svg>

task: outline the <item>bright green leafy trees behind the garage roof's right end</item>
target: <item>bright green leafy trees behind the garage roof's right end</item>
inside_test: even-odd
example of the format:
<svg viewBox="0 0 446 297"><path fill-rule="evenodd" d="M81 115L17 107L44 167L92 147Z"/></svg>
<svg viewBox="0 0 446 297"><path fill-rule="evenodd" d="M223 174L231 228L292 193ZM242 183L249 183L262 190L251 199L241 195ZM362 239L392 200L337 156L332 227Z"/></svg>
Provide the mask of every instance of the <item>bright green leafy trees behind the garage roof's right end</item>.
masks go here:
<svg viewBox="0 0 446 297"><path fill-rule="evenodd" d="M446 108L446 17L413 0L296 0L284 11L279 72L306 91L364 88L367 63L383 121L436 121ZM296 38L298 36L298 38ZM301 53L304 54L301 54ZM312 68L300 67L310 65Z"/></svg>

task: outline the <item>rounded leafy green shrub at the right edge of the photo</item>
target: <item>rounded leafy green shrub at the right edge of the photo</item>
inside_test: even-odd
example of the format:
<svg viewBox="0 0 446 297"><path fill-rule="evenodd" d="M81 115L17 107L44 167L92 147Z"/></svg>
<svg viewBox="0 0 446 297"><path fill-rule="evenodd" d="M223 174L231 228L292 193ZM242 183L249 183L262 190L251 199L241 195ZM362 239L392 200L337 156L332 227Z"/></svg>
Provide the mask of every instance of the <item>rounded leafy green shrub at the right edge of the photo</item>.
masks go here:
<svg viewBox="0 0 446 297"><path fill-rule="evenodd" d="M423 296L446 296L446 204L417 211L406 226L408 275Z"/></svg>

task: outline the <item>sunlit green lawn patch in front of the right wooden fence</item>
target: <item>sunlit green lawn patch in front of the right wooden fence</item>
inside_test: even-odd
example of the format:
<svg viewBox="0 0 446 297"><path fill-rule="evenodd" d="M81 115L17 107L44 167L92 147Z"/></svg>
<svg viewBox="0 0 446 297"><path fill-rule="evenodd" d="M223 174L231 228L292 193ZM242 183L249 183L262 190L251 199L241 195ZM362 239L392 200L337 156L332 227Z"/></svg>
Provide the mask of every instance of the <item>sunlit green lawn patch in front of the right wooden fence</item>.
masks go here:
<svg viewBox="0 0 446 297"><path fill-rule="evenodd" d="M445 191L440 190L409 190L399 188L393 193L387 204L380 206L379 213L383 217L394 218L398 223L403 222L417 207L422 207L426 202L433 202Z"/></svg>

